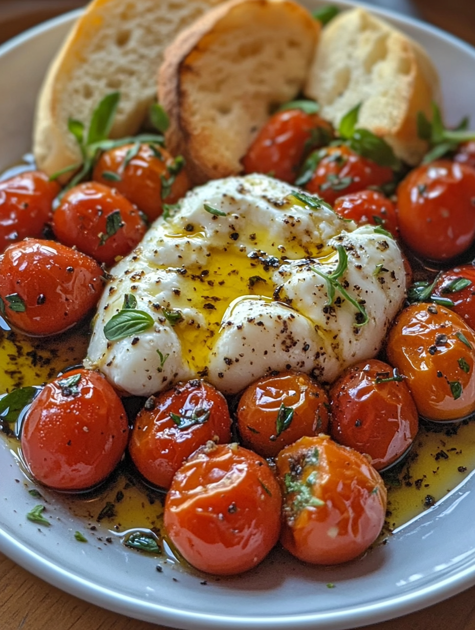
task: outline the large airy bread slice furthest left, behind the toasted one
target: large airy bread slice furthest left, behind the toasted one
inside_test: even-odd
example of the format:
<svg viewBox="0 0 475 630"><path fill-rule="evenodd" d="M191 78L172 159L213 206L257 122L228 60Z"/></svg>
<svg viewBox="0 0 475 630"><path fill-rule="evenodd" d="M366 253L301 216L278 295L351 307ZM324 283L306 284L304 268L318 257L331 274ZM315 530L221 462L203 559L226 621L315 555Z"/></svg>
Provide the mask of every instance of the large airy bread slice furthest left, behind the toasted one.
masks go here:
<svg viewBox="0 0 475 630"><path fill-rule="evenodd" d="M33 153L48 175L81 161L69 117L88 125L120 91L111 137L135 134L156 96L163 50L221 0L93 0L50 66L37 103Z"/></svg>

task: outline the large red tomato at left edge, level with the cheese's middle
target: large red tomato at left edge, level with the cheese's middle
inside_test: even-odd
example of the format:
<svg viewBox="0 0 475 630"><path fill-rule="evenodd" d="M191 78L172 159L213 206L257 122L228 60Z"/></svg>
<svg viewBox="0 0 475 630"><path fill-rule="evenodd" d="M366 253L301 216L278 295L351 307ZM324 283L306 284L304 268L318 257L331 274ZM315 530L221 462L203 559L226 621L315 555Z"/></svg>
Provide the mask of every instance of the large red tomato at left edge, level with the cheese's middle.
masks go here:
<svg viewBox="0 0 475 630"><path fill-rule="evenodd" d="M102 274L97 262L79 251L25 239L0 258L0 307L8 322L27 335L55 335L97 304Z"/></svg>

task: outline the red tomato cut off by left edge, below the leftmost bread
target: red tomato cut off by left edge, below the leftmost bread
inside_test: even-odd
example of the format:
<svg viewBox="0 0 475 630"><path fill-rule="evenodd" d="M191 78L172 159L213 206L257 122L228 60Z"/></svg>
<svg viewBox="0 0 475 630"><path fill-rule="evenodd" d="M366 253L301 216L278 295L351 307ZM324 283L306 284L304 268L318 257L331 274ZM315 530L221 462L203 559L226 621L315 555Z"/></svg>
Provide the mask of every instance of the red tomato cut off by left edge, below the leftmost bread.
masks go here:
<svg viewBox="0 0 475 630"><path fill-rule="evenodd" d="M40 171L0 181L0 253L26 236L42 236L59 190L56 181Z"/></svg>

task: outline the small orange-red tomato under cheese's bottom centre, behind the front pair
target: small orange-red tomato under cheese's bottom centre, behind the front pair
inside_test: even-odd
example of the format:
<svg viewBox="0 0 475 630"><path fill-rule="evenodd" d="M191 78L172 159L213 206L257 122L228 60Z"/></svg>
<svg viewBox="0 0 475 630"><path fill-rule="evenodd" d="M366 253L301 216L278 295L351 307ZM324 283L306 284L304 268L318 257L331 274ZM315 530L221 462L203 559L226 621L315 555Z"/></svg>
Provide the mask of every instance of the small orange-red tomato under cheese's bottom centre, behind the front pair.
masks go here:
<svg viewBox="0 0 475 630"><path fill-rule="evenodd" d="M242 443L262 457L275 457L303 435L326 432L328 409L325 390L307 374L282 372L261 379L250 385L239 401ZM290 423L283 428L289 414Z"/></svg>

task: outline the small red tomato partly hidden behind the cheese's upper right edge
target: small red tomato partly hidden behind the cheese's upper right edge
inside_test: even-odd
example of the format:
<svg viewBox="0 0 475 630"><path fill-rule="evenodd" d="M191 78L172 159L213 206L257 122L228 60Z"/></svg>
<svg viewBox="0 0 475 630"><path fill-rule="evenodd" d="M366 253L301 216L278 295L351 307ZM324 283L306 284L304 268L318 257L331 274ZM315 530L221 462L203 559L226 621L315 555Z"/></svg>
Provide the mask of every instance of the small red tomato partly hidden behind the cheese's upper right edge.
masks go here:
<svg viewBox="0 0 475 630"><path fill-rule="evenodd" d="M359 225L382 226L397 236L394 203L376 190L360 190L338 197L333 208L344 219L353 219Z"/></svg>

